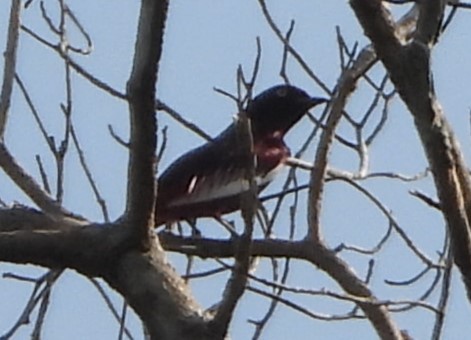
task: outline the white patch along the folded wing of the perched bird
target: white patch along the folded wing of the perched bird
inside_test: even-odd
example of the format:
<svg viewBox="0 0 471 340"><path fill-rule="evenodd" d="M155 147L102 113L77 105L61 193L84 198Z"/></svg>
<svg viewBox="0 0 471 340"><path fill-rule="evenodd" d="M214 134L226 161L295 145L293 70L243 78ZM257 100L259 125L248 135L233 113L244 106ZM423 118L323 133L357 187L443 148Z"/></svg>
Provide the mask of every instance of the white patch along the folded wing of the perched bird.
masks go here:
<svg viewBox="0 0 471 340"><path fill-rule="evenodd" d="M281 163L264 176L255 176L255 182L258 186L268 184L283 167L284 164ZM219 180L215 181L216 178ZM209 202L218 198L238 195L247 190L249 190L249 182L246 179L239 178L239 176L227 174L209 178L194 176L186 190L187 195L174 200L169 206L178 207L193 203Z"/></svg>

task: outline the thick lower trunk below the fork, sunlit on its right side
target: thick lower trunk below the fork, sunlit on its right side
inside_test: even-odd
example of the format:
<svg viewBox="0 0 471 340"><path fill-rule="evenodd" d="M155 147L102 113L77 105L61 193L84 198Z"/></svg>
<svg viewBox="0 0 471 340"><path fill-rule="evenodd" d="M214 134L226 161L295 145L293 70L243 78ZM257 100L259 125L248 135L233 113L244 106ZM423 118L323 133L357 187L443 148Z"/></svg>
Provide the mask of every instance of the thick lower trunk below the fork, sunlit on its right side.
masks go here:
<svg viewBox="0 0 471 340"><path fill-rule="evenodd" d="M159 247L157 242L151 245ZM202 309L166 263L161 249L126 253L116 269L105 279L126 297L152 339L214 339L208 334Z"/></svg>

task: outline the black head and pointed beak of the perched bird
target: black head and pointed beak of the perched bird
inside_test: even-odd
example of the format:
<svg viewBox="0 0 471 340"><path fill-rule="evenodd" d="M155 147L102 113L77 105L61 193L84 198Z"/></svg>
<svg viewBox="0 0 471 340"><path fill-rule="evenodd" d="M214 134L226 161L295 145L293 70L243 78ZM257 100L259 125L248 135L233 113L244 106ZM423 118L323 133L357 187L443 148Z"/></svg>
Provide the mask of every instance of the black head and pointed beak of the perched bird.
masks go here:
<svg viewBox="0 0 471 340"><path fill-rule="evenodd" d="M274 132L284 135L310 108L326 101L297 87L278 85L256 96L247 107L247 115L254 135Z"/></svg>

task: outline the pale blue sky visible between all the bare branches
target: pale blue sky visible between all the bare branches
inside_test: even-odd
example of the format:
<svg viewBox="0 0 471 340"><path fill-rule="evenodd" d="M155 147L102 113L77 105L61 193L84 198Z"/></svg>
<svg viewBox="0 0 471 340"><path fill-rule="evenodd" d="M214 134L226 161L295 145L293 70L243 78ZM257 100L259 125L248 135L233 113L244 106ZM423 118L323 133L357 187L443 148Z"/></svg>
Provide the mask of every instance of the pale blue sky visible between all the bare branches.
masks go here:
<svg viewBox="0 0 471 340"><path fill-rule="evenodd" d="M93 52L86 57L74 56L75 60L97 78L124 92L133 56L138 2L69 1L68 4L93 40ZM57 3L46 1L45 5L50 16L57 22ZM334 87L339 77L336 26L339 26L350 46L358 42L361 48L368 43L352 10L344 1L297 1L295 4L287 1L268 1L268 5L283 31L286 31L290 21L295 19L293 46L330 88ZM5 48L9 6L9 1L0 2L2 51ZM399 8L395 13L403 11L404 9ZM470 15L466 11L459 12L433 52L437 95L467 160L470 158ZM48 31L41 18L38 1L33 1L31 7L23 12L22 23L55 41L56 37ZM70 36L73 45L85 46L84 39L73 27L70 27ZM256 55L256 37L260 37L262 43L261 68L255 87L255 92L258 93L282 82L279 70L283 50L283 46L268 27L258 2L171 1L157 86L159 98L188 120L197 123L210 135L216 135L230 124L236 106L228 98L215 93L213 88L218 87L235 93L238 65L242 65L247 73L252 70ZM64 130L59 106L65 100L63 63L54 52L22 34L17 71L27 84L49 133L60 140ZM313 95L326 96L295 62L290 61L288 71L294 85ZM379 77L384 74L384 70L377 65L370 74L372 77ZM3 76L2 70L0 75ZM76 74L73 75L72 83L74 126L94 178L107 201L110 218L114 220L124 209L127 152L109 135L108 124L113 126L118 135L127 139L128 107L122 100L110 97ZM355 112L360 116L370 102L371 91L364 83L360 83L347 109L353 116ZM312 112L319 116L321 109ZM168 126L168 147L161 161L162 168L178 155L203 142L200 137L176 124L165 113L159 115L159 124L160 127ZM291 131L287 142L294 151L300 147L302 137L312 128L312 123L304 119ZM348 139L354 137L352 129L346 124L341 124L339 132ZM37 178L39 175L34 157L41 155L53 178L54 162L42 141L37 125L16 87L10 109L7 145L18 162ZM306 152L305 159L312 160L314 152L315 143ZM355 171L358 167L355 154L338 143L331 156L332 166L336 168ZM71 150L66 166L64 205L91 221L102 221L103 216L93 199L90 187L84 184L85 177L78 167L75 150ZM390 107L388 124L370 149L370 170L413 175L423 171L425 167L423 150L411 116L399 98L395 98ZM307 177L301 175L300 179L306 181ZM276 192L282 183L282 179L273 183L268 193ZM430 178L414 183L382 179L369 180L362 184L393 212L398 223L420 249L431 258L436 258L436 252L442 247L443 219L440 214L431 211L429 207L407 194L408 190L420 189L434 197L435 191ZM305 199L305 196L300 199L303 197ZM0 174L0 198L7 203L31 204L3 173ZM373 208L364 196L342 182L327 185L323 206L322 232L331 247L342 242L371 247L388 226L384 216ZM299 228L296 230L296 236L302 237L306 232L305 208L300 208L298 214ZM288 236L285 227L287 221L288 218L280 218L275 226L277 237ZM206 222L204 225L210 226L211 223ZM259 235L260 231L257 233ZM203 234L210 237L227 237L217 226L214 226L214 229L207 227ZM342 253L341 256L360 277L366 275L369 257L354 253ZM184 258L170 255L169 259L177 270L184 270ZM371 287L380 299L415 299L424 292L433 278L429 273L423 280L408 287L391 287L384 283L384 279L406 280L423 268L417 258L404 247L403 241L396 236L393 236L375 259L377 263ZM214 266L214 261L207 260L198 262L196 269L204 270ZM0 263L0 273L7 272L39 276L44 270ZM262 261L257 275L269 277L269 266L266 262ZM204 307L209 307L219 300L226 279L227 274L221 274L211 280L193 282L194 294ZM328 276L305 263L292 265L288 283L300 288L338 290ZM0 334L6 332L17 320L31 289L32 286L28 283L0 278ZM75 272L67 271L55 285L52 294L52 305L44 326L44 339L117 338L118 324L88 280ZM113 292L110 294L120 309L122 299ZM306 299L289 294L284 296L321 314L345 313L351 308L328 298ZM437 298L436 291L432 294L432 302ZM263 316L268 303L266 299L247 292L231 325L232 338L250 338L253 329L247 320ZM447 312L443 338L462 339L463 334L471 331L468 317L471 309L456 270ZM417 309L407 313L395 313L393 318L401 329L407 329L414 338L430 337L433 315L429 311ZM133 331L136 339L142 337L140 323L132 312L129 313L127 326ZM28 338L31 330L30 326L23 327L16 333L15 339ZM343 339L351 337L352 334L361 339L376 339L369 322L364 320L315 321L291 309L279 307L262 338Z"/></svg>

